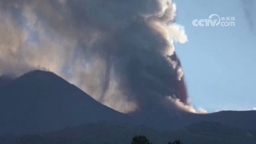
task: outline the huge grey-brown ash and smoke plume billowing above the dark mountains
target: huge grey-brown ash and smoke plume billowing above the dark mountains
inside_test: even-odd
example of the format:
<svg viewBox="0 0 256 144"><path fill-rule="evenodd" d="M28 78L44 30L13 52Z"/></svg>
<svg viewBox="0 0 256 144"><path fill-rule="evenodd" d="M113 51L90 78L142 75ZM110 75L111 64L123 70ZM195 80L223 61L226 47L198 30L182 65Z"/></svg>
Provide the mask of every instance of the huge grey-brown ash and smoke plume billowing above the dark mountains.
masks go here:
<svg viewBox="0 0 256 144"><path fill-rule="evenodd" d="M187 37L170 0L1 0L0 10L0 74L50 70L121 112L187 106L173 55Z"/></svg>

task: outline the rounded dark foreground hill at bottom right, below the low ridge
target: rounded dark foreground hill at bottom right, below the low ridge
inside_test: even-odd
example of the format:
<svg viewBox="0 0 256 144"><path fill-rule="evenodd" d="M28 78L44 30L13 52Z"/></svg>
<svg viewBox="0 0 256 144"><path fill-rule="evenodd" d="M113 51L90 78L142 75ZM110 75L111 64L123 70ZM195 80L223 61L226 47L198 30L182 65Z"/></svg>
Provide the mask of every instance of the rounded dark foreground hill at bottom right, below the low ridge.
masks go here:
<svg viewBox="0 0 256 144"><path fill-rule="evenodd" d="M186 144L254 144L252 133L218 122L197 122L169 135Z"/></svg>

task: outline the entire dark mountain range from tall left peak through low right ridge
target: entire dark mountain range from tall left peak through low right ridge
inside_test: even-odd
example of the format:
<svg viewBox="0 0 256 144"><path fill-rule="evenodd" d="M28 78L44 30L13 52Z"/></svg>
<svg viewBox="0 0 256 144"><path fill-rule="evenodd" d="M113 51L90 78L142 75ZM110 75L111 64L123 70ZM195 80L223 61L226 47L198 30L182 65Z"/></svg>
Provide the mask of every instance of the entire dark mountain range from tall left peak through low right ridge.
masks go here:
<svg viewBox="0 0 256 144"><path fill-rule="evenodd" d="M100 121L144 124L165 131L213 121L256 130L256 111L192 114L179 109L161 110L151 106L123 114L100 104L56 74L35 70L0 87L0 134L40 134Z"/></svg>

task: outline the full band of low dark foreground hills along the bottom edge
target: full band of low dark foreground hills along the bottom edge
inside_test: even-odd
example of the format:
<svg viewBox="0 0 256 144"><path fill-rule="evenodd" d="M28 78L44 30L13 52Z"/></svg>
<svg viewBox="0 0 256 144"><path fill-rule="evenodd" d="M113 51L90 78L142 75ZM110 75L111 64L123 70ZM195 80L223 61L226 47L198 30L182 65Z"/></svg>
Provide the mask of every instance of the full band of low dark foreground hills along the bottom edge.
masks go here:
<svg viewBox="0 0 256 144"><path fill-rule="evenodd" d="M0 136L0 143L130 144L135 135L145 135L152 144L168 144L176 139L184 144L254 144L250 132L217 122L199 122L169 132L120 122L98 122L42 135Z"/></svg>

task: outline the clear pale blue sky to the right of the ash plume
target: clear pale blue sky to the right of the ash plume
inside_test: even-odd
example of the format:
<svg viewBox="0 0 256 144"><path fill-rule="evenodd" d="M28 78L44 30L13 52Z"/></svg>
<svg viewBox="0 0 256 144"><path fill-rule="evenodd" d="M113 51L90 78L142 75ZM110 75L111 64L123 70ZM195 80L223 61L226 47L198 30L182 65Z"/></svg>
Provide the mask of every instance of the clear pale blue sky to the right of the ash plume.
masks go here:
<svg viewBox="0 0 256 144"><path fill-rule="evenodd" d="M249 0L250 1L250 0ZM253 0L251 0L253 1ZM176 44L192 105L208 112L256 107L256 32L242 0L173 0L186 44ZM256 9L254 2L253 8ZM234 27L196 27L211 14L235 17ZM255 25L255 23L254 23Z"/></svg>

